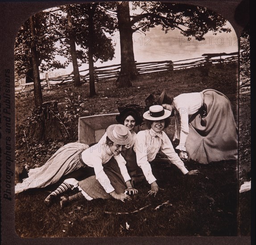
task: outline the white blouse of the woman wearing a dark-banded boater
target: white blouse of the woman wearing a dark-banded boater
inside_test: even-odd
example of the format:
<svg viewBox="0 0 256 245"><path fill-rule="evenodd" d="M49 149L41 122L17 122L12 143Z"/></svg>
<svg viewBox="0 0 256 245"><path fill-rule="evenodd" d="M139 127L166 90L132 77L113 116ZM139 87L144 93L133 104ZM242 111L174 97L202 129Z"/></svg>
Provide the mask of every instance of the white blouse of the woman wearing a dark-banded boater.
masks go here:
<svg viewBox="0 0 256 245"><path fill-rule="evenodd" d="M134 148L136 151L137 164L142 169L149 184L157 180L153 176L149 162L155 159L157 152L160 149L163 153L165 153L169 161L175 164L183 174L188 172L184 166L184 163L174 151L170 139L163 131L158 134L152 129L139 131L136 136Z"/></svg>

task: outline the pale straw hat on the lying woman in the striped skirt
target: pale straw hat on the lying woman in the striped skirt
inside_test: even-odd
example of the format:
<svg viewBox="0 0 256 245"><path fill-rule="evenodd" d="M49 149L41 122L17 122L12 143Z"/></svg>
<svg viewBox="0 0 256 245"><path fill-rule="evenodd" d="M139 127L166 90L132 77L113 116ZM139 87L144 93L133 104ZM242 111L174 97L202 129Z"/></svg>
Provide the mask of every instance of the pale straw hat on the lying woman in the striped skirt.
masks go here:
<svg viewBox="0 0 256 245"><path fill-rule="evenodd" d="M132 134L127 127L121 124L112 124L107 127L107 136L114 143L128 145L132 143Z"/></svg>

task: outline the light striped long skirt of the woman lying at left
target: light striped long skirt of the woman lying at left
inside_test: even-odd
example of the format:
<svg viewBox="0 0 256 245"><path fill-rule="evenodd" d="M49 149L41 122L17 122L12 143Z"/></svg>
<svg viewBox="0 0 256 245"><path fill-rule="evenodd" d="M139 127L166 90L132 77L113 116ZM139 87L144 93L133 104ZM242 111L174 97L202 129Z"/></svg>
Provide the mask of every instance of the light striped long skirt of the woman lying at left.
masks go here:
<svg viewBox="0 0 256 245"><path fill-rule="evenodd" d="M15 193L54 184L63 176L81 167L86 167L81 162L80 155L88 147L83 143L69 143L59 148L43 166L29 170L29 177L15 185Z"/></svg>

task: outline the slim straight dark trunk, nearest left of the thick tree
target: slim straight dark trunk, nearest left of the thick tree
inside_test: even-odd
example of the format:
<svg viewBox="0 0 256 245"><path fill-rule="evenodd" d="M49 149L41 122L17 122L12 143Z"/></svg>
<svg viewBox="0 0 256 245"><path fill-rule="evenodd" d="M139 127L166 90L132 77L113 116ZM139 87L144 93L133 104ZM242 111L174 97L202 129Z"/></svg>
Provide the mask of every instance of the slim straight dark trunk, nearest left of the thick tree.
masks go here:
<svg viewBox="0 0 256 245"><path fill-rule="evenodd" d="M93 27L93 16L95 11L94 4L91 5L91 11L89 11L89 42L88 42L88 59L89 59L89 87L90 87L90 97L96 94L95 90L95 79L94 79L94 62L93 62L93 40L94 40L94 27Z"/></svg>

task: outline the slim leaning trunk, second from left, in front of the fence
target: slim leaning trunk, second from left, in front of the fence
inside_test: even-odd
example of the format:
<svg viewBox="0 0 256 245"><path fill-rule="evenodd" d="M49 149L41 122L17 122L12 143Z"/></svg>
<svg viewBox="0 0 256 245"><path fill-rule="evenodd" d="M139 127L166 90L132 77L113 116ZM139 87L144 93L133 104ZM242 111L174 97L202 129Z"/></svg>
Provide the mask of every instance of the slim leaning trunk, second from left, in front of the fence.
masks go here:
<svg viewBox="0 0 256 245"><path fill-rule="evenodd" d="M72 29L73 29L72 18L71 18L71 14L68 7L67 7L67 23L70 29L69 43L70 43L70 55L71 55L73 71L74 71L74 86L79 87L81 86L81 82L80 82L80 75L79 75L79 69L78 69L75 41L72 33Z"/></svg>

